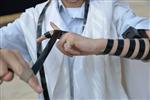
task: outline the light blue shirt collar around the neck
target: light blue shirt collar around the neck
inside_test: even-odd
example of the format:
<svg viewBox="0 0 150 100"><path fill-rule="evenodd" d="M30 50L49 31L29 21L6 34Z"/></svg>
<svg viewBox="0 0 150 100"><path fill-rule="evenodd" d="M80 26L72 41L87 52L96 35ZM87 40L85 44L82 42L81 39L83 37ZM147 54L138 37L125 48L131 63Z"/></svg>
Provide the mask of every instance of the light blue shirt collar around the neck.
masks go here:
<svg viewBox="0 0 150 100"><path fill-rule="evenodd" d="M79 7L79 8L75 8L75 9L78 9L78 12L76 12L75 14L71 14L70 16L72 17L72 18L79 18L79 19L84 19L84 9L85 9L85 3L84 4L82 4L82 6L81 7ZM62 3L62 1L61 0L58 0L58 9L59 9L59 11L61 12L61 11L63 11L63 10L66 10L66 9L74 9L74 8L65 8L65 6L63 5L63 3Z"/></svg>

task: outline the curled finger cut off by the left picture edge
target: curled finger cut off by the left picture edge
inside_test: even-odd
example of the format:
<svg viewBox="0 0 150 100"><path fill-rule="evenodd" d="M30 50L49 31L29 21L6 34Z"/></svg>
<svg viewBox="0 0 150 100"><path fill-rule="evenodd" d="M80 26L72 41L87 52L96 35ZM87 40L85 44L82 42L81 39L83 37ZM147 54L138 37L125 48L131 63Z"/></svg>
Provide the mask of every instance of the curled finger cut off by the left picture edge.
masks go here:
<svg viewBox="0 0 150 100"><path fill-rule="evenodd" d="M7 63L0 59L0 78L4 77L8 73Z"/></svg>

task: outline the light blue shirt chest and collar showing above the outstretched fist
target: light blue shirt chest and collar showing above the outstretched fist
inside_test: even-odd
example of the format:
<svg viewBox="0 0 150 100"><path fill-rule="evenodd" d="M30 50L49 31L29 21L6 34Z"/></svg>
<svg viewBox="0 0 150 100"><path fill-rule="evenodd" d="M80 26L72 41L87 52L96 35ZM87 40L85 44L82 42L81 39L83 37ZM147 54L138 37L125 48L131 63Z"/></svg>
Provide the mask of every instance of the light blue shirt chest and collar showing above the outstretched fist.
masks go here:
<svg viewBox="0 0 150 100"><path fill-rule="evenodd" d="M64 20L68 31L81 33L84 20L84 5L78 8L65 8L62 1L59 0L59 12Z"/></svg>

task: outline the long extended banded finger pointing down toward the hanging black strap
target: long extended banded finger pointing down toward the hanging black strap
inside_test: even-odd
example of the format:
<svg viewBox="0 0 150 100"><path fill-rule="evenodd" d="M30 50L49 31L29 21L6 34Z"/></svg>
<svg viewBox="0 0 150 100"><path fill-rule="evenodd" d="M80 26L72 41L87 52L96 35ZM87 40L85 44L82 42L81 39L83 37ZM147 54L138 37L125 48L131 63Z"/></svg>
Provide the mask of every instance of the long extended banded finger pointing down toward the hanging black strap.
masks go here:
<svg viewBox="0 0 150 100"><path fill-rule="evenodd" d="M5 52L6 53L6 52ZM9 56L8 56L9 55ZM21 55L18 52L7 52L7 54L3 54L3 58L5 61L9 64L10 69L12 69L19 77L22 75L22 73L25 71L29 65L23 60ZM39 83L36 77L31 77L28 80L28 84L38 93L41 92L41 89L39 88Z"/></svg>

